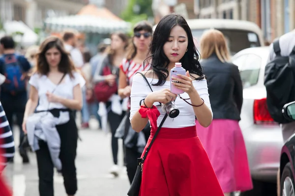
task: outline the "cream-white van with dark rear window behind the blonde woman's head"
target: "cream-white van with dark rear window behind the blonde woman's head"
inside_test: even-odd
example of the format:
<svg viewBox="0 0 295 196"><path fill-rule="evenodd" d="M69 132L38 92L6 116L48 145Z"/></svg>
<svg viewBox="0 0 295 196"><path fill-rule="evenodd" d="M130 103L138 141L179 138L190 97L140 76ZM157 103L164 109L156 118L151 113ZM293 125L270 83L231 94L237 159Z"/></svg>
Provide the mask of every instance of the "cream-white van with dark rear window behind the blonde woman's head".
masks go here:
<svg viewBox="0 0 295 196"><path fill-rule="evenodd" d="M200 37L207 29L220 30L227 39L231 55L251 47L264 46L262 30L249 21L231 19L189 19L187 24L192 30L195 44L199 50ZM156 25L153 27L155 29Z"/></svg>

